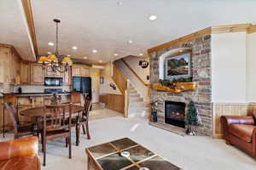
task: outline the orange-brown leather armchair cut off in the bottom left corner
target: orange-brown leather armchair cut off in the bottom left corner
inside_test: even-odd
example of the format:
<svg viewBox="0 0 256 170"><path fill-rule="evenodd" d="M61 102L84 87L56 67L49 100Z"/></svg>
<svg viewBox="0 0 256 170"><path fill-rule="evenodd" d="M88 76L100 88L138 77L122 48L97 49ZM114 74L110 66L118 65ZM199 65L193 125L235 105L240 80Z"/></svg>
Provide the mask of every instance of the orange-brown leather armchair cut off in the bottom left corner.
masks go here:
<svg viewBox="0 0 256 170"><path fill-rule="evenodd" d="M41 169L37 137L0 142L0 153L0 169Z"/></svg>

